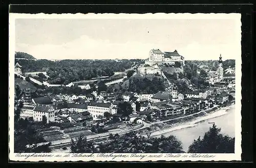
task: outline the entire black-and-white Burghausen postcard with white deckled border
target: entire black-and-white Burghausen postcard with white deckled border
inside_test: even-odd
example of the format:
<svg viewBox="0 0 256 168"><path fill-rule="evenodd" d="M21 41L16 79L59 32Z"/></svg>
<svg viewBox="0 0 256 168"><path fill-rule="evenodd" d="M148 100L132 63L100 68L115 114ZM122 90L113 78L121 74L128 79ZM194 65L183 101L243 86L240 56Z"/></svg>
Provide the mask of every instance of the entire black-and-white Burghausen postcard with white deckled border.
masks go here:
<svg viewBox="0 0 256 168"><path fill-rule="evenodd" d="M10 14L17 161L241 160L241 15Z"/></svg>

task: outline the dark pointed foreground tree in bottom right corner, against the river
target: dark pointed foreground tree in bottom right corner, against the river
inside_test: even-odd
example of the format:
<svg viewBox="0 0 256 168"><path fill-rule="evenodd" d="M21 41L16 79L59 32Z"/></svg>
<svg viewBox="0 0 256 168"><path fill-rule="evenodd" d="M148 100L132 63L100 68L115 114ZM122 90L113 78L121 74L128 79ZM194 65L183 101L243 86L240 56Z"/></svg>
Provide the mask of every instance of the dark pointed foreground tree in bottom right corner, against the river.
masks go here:
<svg viewBox="0 0 256 168"><path fill-rule="evenodd" d="M234 138L220 133L214 124L209 131L189 146L188 153L234 153Z"/></svg>

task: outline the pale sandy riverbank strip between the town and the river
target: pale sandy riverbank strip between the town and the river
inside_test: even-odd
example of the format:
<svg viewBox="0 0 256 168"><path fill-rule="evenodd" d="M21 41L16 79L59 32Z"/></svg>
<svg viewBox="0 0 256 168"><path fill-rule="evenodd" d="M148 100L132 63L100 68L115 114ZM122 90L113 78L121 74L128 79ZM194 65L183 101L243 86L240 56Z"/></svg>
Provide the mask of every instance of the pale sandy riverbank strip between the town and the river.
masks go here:
<svg viewBox="0 0 256 168"><path fill-rule="evenodd" d="M185 128L189 128L189 127L195 127L198 123L206 121L207 119L216 118L216 117L220 117L222 115L227 114L228 109L233 108L233 107L234 107L234 105L231 105L228 107L220 108L219 110L217 110L215 112L211 112L211 113L202 112L201 114L203 116L198 116L198 117L194 118L192 121L186 121L186 122L176 123L176 124L171 124L171 125L168 125L166 123L161 123L161 125L158 125L158 128L154 128L154 130L157 129L156 131L151 131L151 137L159 137L161 135L164 135L164 134L172 132L172 131L185 129ZM146 136L146 133L143 133L142 135Z"/></svg>

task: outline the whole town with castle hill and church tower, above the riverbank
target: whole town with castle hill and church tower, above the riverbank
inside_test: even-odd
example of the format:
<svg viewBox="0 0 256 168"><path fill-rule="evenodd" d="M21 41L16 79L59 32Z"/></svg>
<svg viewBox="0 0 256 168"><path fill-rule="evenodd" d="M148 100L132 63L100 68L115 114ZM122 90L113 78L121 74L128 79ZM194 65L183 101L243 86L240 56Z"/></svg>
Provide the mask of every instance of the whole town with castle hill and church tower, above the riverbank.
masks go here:
<svg viewBox="0 0 256 168"><path fill-rule="evenodd" d="M152 49L146 60L130 68L80 83L53 84L48 81L50 75L46 71L24 72L25 65L20 59L15 60L15 80L33 88L20 89L15 82L15 89L22 90L23 107L19 118L47 125L39 132L54 148L65 147L80 135L96 140L134 130L143 132L157 123L193 114L205 115L234 103L235 70L233 67L224 69L222 55L217 56L217 69L196 67L199 70L195 75L203 84L193 78L195 75L189 77L189 71L193 71L189 68L193 67L186 65L185 57L177 50ZM170 70L177 73L170 73ZM183 74L185 70L187 77ZM184 78L192 81L186 84L186 89L182 85L186 83ZM36 96L34 86L42 90ZM52 91L44 91L47 89ZM61 91L65 89L76 91Z"/></svg>

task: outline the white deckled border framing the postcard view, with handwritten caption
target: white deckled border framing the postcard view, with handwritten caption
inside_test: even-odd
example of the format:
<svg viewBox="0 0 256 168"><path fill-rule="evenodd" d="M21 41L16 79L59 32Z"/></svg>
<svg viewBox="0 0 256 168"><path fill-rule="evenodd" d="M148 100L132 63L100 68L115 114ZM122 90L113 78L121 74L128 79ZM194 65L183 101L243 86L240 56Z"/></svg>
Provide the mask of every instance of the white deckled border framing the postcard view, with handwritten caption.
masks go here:
<svg viewBox="0 0 256 168"><path fill-rule="evenodd" d="M9 14L9 159L13 161L157 161L157 160L166 160L166 161L185 161L185 160L191 160L191 161L231 161L231 160L241 160L241 78L242 78L242 71L241 71L241 64L242 59L234 58L236 59L236 116L234 121L236 123L235 128L235 153L234 154L207 154L207 155L215 155L215 157L212 158L206 158L206 157L182 157L182 156L190 156L191 154L179 154L180 157L164 157L166 154L162 154L162 157L155 157L155 158L149 158L144 157L141 159L141 157L134 157L132 154L122 154L126 155L127 157L121 158L116 157L113 159L113 157L97 157L98 154L94 154L94 157L72 157L73 154L70 154L70 157L63 157L67 154L57 154L57 153L49 153L50 155L53 155L53 157L16 157L14 154L14 55L15 55L15 19L18 18L38 18L38 19L234 19L237 22L237 35L241 39L241 14L239 13L197 13L197 14L191 14L191 13L146 13L146 14L94 14L94 13L88 13L88 14L18 14L18 13L10 13ZM29 30L28 30L29 31ZM238 46L241 47L241 42L238 44ZM238 55L241 56L241 51L238 53ZM48 154L48 155L49 155ZM25 155L25 153L23 153ZM31 155L31 154L26 154ZM113 154L113 155L119 155L119 154ZM137 155L144 155L144 154L137 154ZM159 155L159 154L146 154L146 155ZM178 155L178 154L174 154ZM203 154L201 154L203 155ZM62 157L60 157L62 156Z"/></svg>

